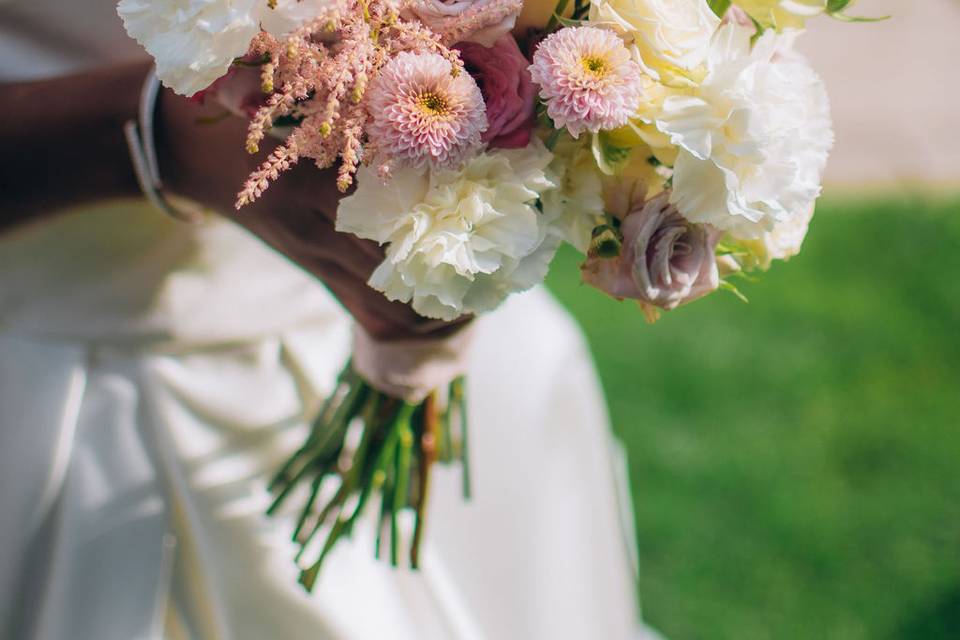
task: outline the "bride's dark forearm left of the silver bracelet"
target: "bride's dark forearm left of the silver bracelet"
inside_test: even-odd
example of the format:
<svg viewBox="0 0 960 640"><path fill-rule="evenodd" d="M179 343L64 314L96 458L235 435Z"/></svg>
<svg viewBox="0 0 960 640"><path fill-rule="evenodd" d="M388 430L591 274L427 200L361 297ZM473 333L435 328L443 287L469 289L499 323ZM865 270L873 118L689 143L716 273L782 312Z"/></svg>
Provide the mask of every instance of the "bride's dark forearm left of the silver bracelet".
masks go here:
<svg viewBox="0 0 960 640"><path fill-rule="evenodd" d="M0 233L66 207L139 193L123 123L149 65L0 86Z"/></svg>

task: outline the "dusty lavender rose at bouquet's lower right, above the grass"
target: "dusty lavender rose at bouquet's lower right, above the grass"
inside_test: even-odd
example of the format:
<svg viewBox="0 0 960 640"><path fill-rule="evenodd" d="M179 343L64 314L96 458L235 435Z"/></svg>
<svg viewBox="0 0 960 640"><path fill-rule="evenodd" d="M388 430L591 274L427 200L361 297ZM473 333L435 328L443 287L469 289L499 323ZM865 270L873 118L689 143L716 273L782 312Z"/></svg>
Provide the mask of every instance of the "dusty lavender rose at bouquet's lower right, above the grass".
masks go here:
<svg viewBox="0 0 960 640"><path fill-rule="evenodd" d="M621 225L620 255L591 255L581 267L584 281L615 298L666 310L714 291L720 233L688 221L669 198L665 192L633 209Z"/></svg>

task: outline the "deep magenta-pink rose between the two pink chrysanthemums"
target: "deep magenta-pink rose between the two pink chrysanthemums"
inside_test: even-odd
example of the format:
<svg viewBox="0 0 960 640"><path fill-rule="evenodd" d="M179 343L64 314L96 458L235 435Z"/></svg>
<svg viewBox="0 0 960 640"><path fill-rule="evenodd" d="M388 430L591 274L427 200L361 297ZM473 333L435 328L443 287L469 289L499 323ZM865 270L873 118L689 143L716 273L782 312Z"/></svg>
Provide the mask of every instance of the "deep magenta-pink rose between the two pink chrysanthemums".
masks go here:
<svg viewBox="0 0 960 640"><path fill-rule="evenodd" d="M527 146L537 89L527 70L530 61L520 52L516 40L507 34L490 48L475 42L461 42L456 48L486 103L487 130L481 139L502 149Z"/></svg>

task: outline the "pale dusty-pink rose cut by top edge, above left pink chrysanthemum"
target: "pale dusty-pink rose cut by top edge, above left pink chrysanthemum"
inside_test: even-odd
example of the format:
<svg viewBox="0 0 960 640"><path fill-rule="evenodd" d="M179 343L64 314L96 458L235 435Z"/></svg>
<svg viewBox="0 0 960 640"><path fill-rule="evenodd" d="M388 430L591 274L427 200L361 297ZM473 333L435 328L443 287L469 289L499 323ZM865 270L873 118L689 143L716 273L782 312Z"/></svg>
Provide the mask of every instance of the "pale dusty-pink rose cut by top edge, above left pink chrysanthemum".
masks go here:
<svg viewBox="0 0 960 640"><path fill-rule="evenodd" d="M488 7L490 11L482 11L477 18L470 19L467 27L469 35L463 37L464 14L471 9L476 11ZM522 7L521 0L415 0L405 11L438 34L459 31L458 40L492 47L497 40L510 33Z"/></svg>

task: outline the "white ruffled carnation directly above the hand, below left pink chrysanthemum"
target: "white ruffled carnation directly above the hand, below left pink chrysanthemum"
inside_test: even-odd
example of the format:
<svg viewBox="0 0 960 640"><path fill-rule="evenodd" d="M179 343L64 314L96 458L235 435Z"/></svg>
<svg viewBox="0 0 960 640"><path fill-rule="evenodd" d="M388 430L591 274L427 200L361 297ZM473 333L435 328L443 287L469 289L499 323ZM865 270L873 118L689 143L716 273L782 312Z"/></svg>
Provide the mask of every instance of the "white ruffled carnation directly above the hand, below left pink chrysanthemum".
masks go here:
<svg viewBox="0 0 960 640"><path fill-rule="evenodd" d="M534 206L554 187L552 158L535 141L489 151L459 171L399 169L386 184L361 168L337 230L389 243L369 284L391 300L443 320L489 311L541 282L559 246Z"/></svg>

